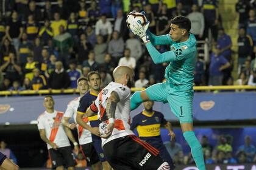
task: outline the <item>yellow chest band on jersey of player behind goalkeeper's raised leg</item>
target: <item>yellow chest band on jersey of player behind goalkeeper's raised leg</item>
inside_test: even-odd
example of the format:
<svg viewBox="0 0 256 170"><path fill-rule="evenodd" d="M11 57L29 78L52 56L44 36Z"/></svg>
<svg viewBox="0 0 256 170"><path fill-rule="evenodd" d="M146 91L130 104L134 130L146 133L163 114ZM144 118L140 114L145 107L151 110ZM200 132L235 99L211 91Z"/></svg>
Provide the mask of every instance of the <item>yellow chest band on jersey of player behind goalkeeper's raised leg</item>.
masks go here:
<svg viewBox="0 0 256 170"><path fill-rule="evenodd" d="M157 137L160 136L160 124L137 126L137 131L139 137Z"/></svg>

